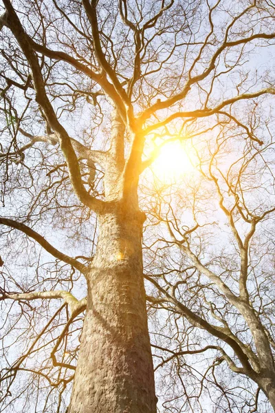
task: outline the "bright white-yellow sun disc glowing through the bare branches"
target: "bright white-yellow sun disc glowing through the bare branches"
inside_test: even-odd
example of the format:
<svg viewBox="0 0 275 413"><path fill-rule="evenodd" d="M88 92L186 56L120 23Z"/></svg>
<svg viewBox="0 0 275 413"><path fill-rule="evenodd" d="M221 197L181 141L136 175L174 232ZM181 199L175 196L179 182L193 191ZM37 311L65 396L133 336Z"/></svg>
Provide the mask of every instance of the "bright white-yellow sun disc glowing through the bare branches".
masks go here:
<svg viewBox="0 0 275 413"><path fill-rule="evenodd" d="M162 181L177 181L195 172L190 153L183 142L175 140L163 145L153 162L153 172Z"/></svg>

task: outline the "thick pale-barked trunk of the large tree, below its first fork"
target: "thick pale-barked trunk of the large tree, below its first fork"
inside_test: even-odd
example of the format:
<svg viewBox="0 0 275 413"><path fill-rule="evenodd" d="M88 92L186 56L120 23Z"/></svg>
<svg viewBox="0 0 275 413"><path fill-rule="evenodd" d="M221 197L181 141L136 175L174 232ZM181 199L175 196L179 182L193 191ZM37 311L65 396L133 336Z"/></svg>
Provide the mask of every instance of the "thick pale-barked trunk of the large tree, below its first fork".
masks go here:
<svg viewBox="0 0 275 413"><path fill-rule="evenodd" d="M154 413L140 211L99 217L69 413Z"/></svg>

